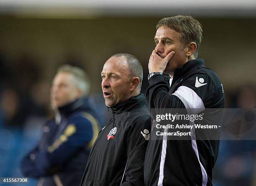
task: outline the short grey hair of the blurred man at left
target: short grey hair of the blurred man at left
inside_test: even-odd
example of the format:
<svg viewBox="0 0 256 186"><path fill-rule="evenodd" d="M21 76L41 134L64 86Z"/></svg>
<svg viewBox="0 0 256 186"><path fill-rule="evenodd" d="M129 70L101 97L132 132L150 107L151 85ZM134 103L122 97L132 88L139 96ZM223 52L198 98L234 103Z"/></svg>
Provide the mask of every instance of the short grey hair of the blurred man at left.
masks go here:
<svg viewBox="0 0 256 186"><path fill-rule="evenodd" d="M90 80L85 73L85 71L77 66L72 66L69 64L62 65L58 68L58 73L69 73L74 76L74 82L78 88L82 90L83 96L87 96L90 92Z"/></svg>

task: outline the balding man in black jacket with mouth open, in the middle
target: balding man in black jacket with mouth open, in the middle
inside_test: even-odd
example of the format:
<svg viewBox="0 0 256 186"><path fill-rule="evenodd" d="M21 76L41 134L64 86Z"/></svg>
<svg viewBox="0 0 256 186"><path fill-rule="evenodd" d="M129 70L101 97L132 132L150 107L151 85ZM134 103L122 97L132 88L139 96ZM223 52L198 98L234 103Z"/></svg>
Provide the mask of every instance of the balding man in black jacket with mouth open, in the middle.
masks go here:
<svg viewBox="0 0 256 186"><path fill-rule="evenodd" d="M115 54L102 72L102 92L113 117L92 147L81 186L142 186L151 129L141 91L142 66L131 54Z"/></svg>

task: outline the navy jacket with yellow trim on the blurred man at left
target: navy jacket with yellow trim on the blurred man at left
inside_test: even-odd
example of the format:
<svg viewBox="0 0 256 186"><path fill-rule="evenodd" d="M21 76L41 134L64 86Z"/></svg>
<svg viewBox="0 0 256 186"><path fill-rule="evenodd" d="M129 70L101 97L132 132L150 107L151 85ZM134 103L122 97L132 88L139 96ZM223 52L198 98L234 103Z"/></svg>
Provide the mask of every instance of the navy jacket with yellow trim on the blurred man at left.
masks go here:
<svg viewBox="0 0 256 186"><path fill-rule="evenodd" d="M38 145L21 162L23 175L39 178L38 186L79 185L97 138L98 117L88 99L60 107L58 116L46 122Z"/></svg>

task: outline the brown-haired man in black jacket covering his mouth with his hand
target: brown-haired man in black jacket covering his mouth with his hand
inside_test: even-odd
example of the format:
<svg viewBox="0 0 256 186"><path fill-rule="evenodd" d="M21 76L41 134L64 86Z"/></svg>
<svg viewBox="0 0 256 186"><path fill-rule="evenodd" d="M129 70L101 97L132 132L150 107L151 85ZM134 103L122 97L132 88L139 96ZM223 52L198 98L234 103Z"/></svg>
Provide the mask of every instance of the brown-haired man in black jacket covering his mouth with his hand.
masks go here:
<svg viewBox="0 0 256 186"><path fill-rule="evenodd" d="M197 59L202 40L197 20L184 15L163 18L156 25L154 40L146 91L150 109L224 108L218 76L204 66L203 59ZM145 186L212 186L219 141L194 139L192 132L191 140L149 140Z"/></svg>

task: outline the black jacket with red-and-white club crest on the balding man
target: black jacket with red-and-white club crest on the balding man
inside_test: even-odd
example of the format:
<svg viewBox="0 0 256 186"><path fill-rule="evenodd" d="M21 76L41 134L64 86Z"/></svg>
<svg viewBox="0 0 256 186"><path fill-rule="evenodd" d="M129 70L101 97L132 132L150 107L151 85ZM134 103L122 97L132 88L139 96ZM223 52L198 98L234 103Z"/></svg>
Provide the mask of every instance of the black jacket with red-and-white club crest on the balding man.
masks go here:
<svg viewBox="0 0 256 186"><path fill-rule="evenodd" d="M111 109L113 117L92 147L81 186L142 186L151 128L146 99L140 94Z"/></svg>

